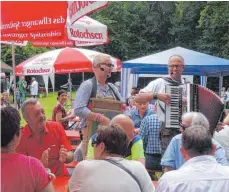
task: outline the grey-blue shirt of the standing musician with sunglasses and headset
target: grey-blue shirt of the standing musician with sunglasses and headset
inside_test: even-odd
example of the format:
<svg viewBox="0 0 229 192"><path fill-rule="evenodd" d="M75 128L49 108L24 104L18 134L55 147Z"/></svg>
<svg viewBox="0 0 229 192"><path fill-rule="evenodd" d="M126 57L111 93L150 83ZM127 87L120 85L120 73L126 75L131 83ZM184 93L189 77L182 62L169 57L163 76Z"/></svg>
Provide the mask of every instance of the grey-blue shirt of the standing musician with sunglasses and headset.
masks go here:
<svg viewBox="0 0 229 192"><path fill-rule="evenodd" d="M115 85L113 85L112 83L109 83L109 85L112 87L115 94L122 101L122 97L120 93L118 92L118 89L115 87ZM91 92L92 92L92 81L91 79L88 79L80 85L76 93L75 104L74 104L74 113L76 116L80 117L80 124L78 126L79 129L86 127L86 121L87 121L88 115L91 112L91 110L87 108L88 102L91 97ZM114 97L113 92L110 89L110 87L109 86L106 86L105 88L101 87L98 81L97 81L97 95L100 98Z"/></svg>

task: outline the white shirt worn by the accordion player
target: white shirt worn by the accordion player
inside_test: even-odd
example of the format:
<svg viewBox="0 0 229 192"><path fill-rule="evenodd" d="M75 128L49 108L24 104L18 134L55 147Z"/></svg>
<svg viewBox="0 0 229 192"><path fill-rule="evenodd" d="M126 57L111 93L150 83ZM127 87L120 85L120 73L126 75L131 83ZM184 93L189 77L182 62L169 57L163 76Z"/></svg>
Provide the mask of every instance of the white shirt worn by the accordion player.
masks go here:
<svg viewBox="0 0 229 192"><path fill-rule="evenodd" d="M170 83L165 81L163 78L158 78L154 81L151 81L144 89L141 89L140 92L141 93L165 93L166 85L170 85ZM180 85L179 87L186 88L186 85ZM165 103L160 100L156 101L158 119L164 122L165 114L161 110L159 104L163 109L165 109Z"/></svg>

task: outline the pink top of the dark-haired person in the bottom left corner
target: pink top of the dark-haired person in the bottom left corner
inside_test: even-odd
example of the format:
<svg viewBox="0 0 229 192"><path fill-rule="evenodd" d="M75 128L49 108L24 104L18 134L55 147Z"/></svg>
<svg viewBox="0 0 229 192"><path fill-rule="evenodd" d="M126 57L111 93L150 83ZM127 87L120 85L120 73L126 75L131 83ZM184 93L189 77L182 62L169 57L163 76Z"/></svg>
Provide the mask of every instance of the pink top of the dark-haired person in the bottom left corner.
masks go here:
<svg viewBox="0 0 229 192"><path fill-rule="evenodd" d="M48 174L39 160L18 153L1 154L1 191L41 191L49 184Z"/></svg>

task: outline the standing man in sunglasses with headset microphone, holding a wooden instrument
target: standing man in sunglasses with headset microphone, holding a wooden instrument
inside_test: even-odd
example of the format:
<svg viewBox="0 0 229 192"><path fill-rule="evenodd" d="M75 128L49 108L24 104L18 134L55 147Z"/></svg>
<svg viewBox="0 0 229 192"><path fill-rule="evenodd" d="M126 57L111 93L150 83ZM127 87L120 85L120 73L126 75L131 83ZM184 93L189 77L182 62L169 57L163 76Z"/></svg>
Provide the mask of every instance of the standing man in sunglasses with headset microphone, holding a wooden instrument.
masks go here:
<svg viewBox="0 0 229 192"><path fill-rule="evenodd" d="M74 113L80 117L79 128L83 132L82 152L85 158L88 145L88 130L92 122L100 125L108 125L110 119L103 115L102 112L93 112L91 98L110 98L121 101L121 95L112 83L106 83L107 78L111 77L114 65L108 55L99 54L93 58L94 78L84 81L75 98ZM89 125L90 124L90 125Z"/></svg>

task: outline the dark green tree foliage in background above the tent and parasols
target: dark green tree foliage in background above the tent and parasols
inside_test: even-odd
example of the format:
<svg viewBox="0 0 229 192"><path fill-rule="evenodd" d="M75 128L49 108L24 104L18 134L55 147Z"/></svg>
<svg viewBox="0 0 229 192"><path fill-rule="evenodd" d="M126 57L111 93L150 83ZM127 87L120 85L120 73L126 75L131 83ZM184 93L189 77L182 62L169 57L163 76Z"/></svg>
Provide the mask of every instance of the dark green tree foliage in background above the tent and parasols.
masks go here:
<svg viewBox="0 0 229 192"><path fill-rule="evenodd" d="M111 1L90 15L108 26L110 43L88 47L122 61L175 46L229 58L227 1ZM50 48L16 47L16 64ZM11 64L11 49L1 59Z"/></svg>

